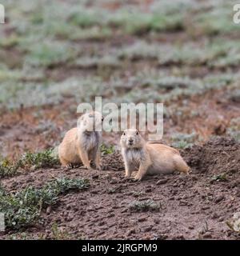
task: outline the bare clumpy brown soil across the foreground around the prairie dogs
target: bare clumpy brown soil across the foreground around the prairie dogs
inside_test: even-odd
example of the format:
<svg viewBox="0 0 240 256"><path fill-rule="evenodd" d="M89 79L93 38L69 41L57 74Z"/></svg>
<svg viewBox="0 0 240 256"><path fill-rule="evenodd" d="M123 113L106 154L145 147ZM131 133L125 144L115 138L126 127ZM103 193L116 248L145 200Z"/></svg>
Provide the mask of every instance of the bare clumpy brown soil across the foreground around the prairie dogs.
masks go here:
<svg viewBox="0 0 240 256"><path fill-rule="evenodd" d="M182 150L189 163L189 176L170 174L147 176L142 182L124 178L121 155L103 158L104 170L36 170L2 180L6 190L67 175L89 178L90 189L62 195L58 204L42 214L43 224L24 230L34 238L52 238L51 226L69 238L98 239L240 239L226 225L240 208L240 146L230 138L214 138L202 146ZM226 173L226 180L214 174ZM154 200L159 211L133 212L136 200ZM0 236L7 238L8 234Z"/></svg>

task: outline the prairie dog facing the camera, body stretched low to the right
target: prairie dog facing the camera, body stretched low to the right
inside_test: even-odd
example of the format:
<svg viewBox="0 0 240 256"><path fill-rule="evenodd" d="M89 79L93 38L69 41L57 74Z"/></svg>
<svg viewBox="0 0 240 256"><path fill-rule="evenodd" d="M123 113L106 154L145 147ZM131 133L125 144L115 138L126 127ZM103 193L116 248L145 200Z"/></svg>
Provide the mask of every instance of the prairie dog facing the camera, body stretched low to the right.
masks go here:
<svg viewBox="0 0 240 256"><path fill-rule="evenodd" d="M136 169L136 180L141 180L145 174L169 174L175 170L188 174L190 170L178 150L162 144L150 144L136 129L125 130L120 145L126 177Z"/></svg>

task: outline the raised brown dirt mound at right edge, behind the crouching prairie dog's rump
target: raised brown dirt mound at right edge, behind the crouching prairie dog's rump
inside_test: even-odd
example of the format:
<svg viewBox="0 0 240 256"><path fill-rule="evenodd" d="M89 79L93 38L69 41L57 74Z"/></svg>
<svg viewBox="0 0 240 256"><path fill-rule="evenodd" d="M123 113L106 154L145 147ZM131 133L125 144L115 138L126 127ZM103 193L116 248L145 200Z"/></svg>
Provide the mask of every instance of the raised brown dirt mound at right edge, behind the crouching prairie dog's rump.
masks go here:
<svg viewBox="0 0 240 256"><path fill-rule="evenodd" d="M182 156L194 173L236 173L240 169L240 145L233 138L212 138L184 150Z"/></svg>

